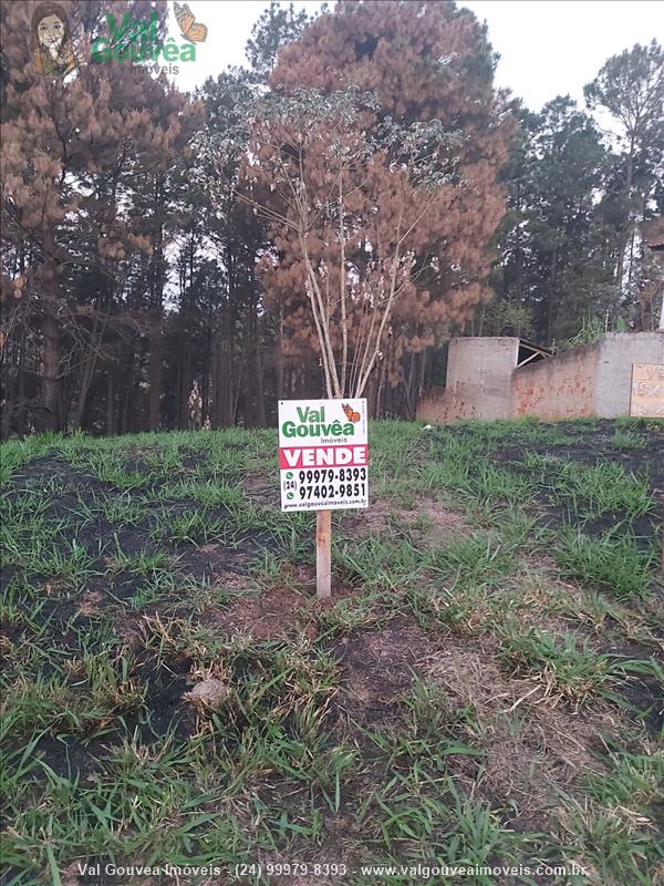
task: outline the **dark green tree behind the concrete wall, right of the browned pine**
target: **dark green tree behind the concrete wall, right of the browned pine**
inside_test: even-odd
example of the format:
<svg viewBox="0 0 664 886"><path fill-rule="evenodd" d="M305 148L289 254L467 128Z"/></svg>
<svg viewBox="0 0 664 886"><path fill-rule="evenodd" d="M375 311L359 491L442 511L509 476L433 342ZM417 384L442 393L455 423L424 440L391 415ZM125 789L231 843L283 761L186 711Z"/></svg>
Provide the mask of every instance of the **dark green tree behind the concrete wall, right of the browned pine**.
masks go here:
<svg viewBox="0 0 664 886"><path fill-rule="evenodd" d="M591 306L609 307L611 269L596 202L609 159L592 120L569 96L553 99L540 114L521 112L492 275L504 307L492 309L494 322L521 333L530 319L536 336L550 344L573 334Z"/></svg>

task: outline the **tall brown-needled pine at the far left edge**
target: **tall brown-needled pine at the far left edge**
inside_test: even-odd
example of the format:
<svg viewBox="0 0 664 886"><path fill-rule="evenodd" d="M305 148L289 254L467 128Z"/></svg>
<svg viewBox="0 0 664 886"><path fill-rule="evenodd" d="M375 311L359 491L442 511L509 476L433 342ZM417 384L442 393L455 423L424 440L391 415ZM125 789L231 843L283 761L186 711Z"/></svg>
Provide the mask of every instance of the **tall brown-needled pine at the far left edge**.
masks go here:
<svg viewBox="0 0 664 886"><path fill-rule="evenodd" d="M160 245L132 207L145 176L165 175L196 119L187 97L147 68L90 58L91 42L105 33L103 12L139 19L155 13L153 3L63 6L79 60L65 80L34 69L31 8L2 7L3 236L10 254L30 258L8 322L12 336L38 337L35 373L52 430L70 423L73 402L72 423L82 424L100 365L112 388L113 330L138 331L125 310L127 282L144 257L157 268ZM165 3L156 14L163 33Z"/></svg>

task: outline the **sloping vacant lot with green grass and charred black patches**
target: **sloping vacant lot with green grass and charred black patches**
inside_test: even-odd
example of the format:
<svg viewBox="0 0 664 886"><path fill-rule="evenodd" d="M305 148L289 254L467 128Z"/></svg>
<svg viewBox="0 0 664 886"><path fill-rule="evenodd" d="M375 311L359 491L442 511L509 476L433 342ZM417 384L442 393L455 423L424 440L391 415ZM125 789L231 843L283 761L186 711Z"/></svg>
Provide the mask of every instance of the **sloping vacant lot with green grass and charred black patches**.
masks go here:
<svg viewBox="0 0 664 886"><path fill-rule="evenodd" d="M373 504L334 516L324 608L274 433L3 447L6 883L83 883L84 861L664 882L662 424L371 442ZM212 704L187 694L204 680ZM284 862L349 873L267 873Z"/></svg>

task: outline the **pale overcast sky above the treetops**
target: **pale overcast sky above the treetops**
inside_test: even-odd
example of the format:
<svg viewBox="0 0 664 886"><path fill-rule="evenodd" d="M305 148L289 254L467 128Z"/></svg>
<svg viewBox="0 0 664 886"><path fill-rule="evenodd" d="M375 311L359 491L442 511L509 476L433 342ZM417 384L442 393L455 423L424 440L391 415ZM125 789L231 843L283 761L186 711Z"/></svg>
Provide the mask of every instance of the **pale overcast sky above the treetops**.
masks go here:
<svg viewBox="0 0 664 886"><path fill-rule="evenodd" d="M251 27L267 6L267 0L189 0L191 12L208 27L208 39L197 48L196 62L180 64L179 87L193 89L229 64L242 64ZM319 6L295 2L312 11ZM610 55L664 35L661 0L468 0L461 6L488 22L500 53L498 85L533 111L566 93L582 102L583 85ZM174 18L169 34L177 34Z"/></svg>

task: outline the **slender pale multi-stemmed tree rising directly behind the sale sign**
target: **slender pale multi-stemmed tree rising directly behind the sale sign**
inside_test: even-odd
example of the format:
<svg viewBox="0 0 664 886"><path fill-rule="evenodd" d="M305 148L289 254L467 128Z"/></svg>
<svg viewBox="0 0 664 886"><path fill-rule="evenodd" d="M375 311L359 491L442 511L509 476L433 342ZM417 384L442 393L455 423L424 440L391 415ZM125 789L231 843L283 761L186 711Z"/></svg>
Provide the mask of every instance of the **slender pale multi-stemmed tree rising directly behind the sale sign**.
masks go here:
<svg viewBox="0 0 664 886"><path fill-rule="evenodd" d="M303 91L255 106L241 199L279 230L303 289L329 396L360 396L398 299L415 297L414 246L455 173L439 122L362 128L371 96ZM365 192L365 193L363 193ZM322 195L324 194L324 199ZM371 195L366 199L366 194ZM373 195L380 194L380 200ZM273 195L273 196L272 196ZM272 267L267 257L266 267Z"/></svg>

